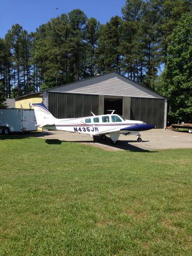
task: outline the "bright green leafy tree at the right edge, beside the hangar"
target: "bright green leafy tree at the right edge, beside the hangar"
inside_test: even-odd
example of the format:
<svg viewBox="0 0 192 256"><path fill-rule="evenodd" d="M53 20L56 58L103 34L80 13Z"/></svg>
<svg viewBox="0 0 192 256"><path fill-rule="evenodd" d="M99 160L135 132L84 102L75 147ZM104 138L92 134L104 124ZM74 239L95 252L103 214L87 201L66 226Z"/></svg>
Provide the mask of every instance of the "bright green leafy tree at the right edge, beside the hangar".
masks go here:
<svg viewBox="0 0 192 256"><path fill-rule="evenodd" d="M192 16L185 14L173 31L163 72L162 93L169 99L173 121L192 120Z"/></svg>

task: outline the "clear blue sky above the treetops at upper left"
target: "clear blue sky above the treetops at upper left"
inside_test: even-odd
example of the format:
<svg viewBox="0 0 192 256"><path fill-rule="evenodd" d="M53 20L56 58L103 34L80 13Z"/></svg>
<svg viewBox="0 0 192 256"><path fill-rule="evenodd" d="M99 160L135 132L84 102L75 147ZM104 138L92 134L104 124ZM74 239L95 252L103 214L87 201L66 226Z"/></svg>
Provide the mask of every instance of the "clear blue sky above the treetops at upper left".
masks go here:
<svg viewBox="0 0 192 256"><path fill-rule="evenodd" d="M121 16L124 4L125 0L0 0L0 37L15 23L30 33L51 18L74 9L106 23L115 15Z"/></svg>

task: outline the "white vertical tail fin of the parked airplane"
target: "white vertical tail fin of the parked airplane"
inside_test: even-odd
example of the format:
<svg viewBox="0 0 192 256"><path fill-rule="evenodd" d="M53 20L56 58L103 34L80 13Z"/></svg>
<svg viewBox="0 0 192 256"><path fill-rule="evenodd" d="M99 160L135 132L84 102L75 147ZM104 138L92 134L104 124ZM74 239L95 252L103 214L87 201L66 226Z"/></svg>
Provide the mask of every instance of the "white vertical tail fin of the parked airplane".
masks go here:
<svg viewBox="0 0 192 256"><path fill-rule="evenodd" d="M35 110L37 125L54 123L55 117L50 113L43 103L34 103L33 107Z"/></svg>

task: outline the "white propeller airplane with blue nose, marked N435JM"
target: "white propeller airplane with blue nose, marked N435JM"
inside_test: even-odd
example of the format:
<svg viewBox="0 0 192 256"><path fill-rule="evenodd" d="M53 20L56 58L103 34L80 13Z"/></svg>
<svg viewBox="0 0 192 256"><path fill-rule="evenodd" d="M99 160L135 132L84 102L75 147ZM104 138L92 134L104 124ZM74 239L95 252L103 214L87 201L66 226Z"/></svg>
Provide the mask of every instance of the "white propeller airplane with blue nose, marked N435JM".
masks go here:
<svg viewBox="0 0 192 256"><path fill-rule="evenodd" d="M119 135L136 134L137 141L141 142L140 131L147 131L154 129L154 125L146 124L142 121L133 121L123 118L121 115L111 114L94 115L78 118L55 118L43 103L34 103L35 116L37 120L37 127L45 128L47 130L59 130L74 133L85 133L93 135L100 135L101 140L106 140L108 134L112 143L115 145L118 141Z"/></svg>

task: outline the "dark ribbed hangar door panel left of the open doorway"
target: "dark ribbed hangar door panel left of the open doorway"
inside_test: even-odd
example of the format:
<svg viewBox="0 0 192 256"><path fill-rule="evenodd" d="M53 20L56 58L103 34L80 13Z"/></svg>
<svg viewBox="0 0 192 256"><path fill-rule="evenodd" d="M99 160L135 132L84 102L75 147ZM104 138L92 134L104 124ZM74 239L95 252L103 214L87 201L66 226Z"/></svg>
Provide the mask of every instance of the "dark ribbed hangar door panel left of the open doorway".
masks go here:
<svg viewBox="0 0 192 256"><path fill-rule="evenodd" d="M98 95L49 92L49 110L56 118L98 115Z"/></svg>

